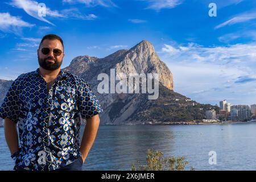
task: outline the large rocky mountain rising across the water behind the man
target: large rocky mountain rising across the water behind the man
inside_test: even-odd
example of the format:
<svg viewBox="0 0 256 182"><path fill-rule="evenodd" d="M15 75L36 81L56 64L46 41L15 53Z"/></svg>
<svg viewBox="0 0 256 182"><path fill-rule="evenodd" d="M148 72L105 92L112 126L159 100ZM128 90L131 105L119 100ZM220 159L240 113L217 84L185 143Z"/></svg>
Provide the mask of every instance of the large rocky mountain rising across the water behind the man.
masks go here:
<svg viewBox="0 0 256 182"><path fill-rule="evenodd" d="M104 113L100 116L101 124L163 124L195 121L204 118L205 110L218 110L216 106L199 104L174 92L170 69L159 59L154 46L147 40L143 40L129 50L122 49L104 58L75 57L64 70L84 78L89 83L104 109ZM141 90L139 93L99 93L97 87L102 80L97 80L98 75L105 73L111 79L111 70L122 83L127 81L126 78L121 77L122 74L127 76L131 73L138 75L158 73L158 98L149 100L148 96L152 94L142 93ZM140 86L147 81L148 77L146 80L139 80ZM9 87L11 82L0 82L2 95L6 94L6 87ZM117 82L118 80L114 80L114 84ZM127 83L129 85L131 81ZM0 100L3 99L2 95Z"/></svg>

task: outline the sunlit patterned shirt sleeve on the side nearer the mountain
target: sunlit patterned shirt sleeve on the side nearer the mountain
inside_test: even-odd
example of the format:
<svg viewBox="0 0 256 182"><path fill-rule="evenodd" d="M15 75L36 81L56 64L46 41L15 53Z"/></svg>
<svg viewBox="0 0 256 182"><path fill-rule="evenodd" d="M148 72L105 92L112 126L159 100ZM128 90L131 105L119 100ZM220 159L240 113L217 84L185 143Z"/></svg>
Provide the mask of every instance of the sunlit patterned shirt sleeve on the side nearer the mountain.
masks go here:
<svg viewBox="0 0 256 182"><path fill-rule="evenodd" d="M77 103L82 118L91 118L103 112L100 102L97 100L87 82L82 80L78 91L79 98Z"/></svg>

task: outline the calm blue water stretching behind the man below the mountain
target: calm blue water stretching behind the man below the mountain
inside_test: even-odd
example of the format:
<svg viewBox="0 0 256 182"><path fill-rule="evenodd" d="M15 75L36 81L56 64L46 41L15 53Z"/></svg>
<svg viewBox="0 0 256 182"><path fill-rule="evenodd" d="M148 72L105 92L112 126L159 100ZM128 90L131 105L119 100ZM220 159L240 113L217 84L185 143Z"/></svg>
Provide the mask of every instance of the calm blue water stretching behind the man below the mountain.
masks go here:
<svg viewBox="0 0 256 182"><path fill-rule="evenodd" d="M130 170L145 161L147 148L164 156L186 156L196 170L255 170L256 123L199 126L100 126L84 170ZM210 165L209 151L217 164ZM13 169L0 128L0 170Z"/></svg>

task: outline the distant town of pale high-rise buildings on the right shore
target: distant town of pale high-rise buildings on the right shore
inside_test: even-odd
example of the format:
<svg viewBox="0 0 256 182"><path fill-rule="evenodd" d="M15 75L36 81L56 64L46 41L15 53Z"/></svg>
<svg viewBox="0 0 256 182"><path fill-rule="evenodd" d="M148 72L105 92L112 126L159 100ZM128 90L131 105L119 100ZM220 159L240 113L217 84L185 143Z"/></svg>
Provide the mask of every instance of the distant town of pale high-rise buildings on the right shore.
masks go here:
<svg viewBox="0 0 256 182"><path fill-rule="evenodd" d="M220 101L220 110L214 109L205 112L204 122L225 122L225 121L241 121L256 122L256 104L253 105L231 105L228 101Z"/></svg>

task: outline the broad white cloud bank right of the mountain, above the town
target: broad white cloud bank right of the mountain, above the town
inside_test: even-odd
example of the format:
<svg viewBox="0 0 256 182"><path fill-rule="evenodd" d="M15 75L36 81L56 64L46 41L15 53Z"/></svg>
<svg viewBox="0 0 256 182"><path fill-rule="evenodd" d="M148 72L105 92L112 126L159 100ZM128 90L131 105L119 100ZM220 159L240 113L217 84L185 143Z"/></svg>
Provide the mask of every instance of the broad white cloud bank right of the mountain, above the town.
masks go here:
<svg viewBox="0 0 256 182"><path fill-rule="evenodd" d="M192 100L210 104L223 99L232 104L256 103L256 44L164 44L159 57L174 74L175 91Z"/></svg>

